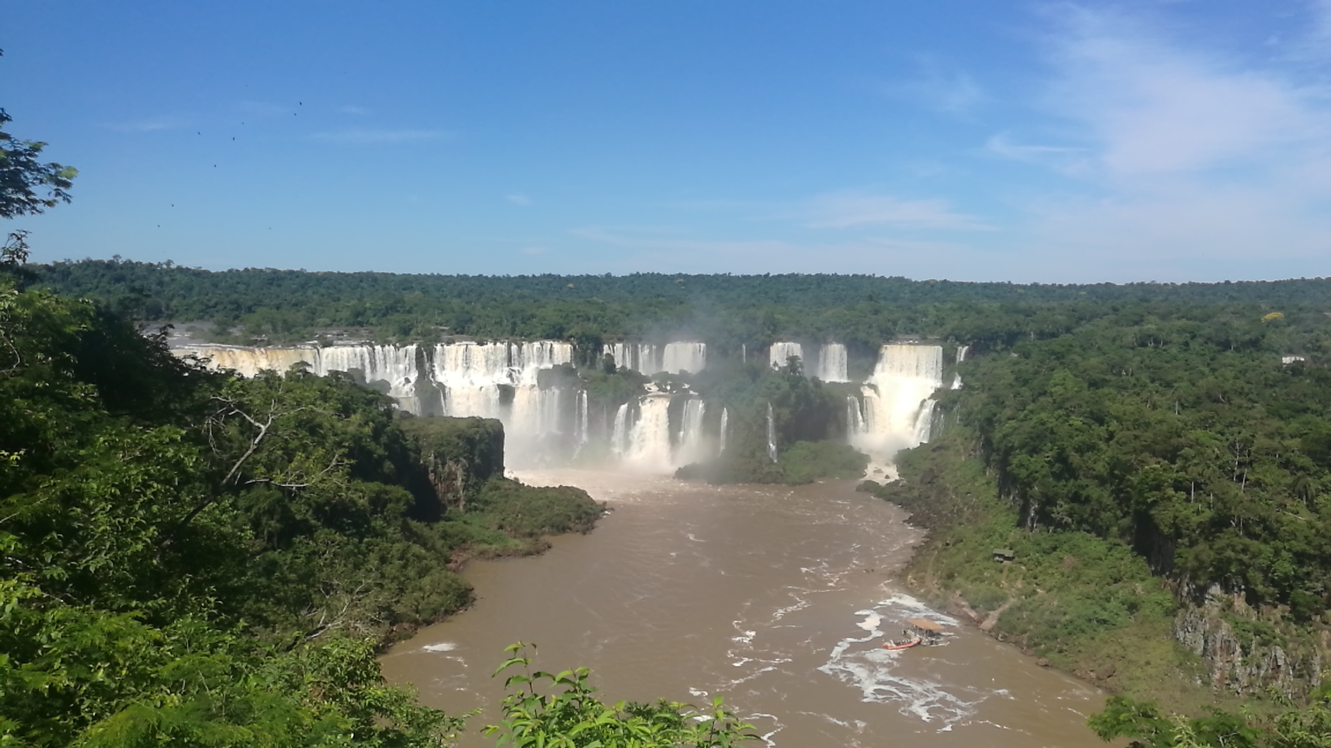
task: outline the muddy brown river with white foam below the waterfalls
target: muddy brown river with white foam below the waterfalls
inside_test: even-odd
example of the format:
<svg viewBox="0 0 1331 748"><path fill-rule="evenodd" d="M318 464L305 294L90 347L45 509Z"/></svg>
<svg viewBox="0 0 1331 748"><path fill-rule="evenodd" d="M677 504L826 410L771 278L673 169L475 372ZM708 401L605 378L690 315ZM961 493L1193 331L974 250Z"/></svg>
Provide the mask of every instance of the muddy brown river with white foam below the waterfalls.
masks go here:
<svg viewBox="0 0 1331 748"><path fill-rule="evenodd" d="M607 701L723 695L781 748L1103 745L1085 727L1103 693L902 591L920 531L853 483L520 476L583 487L612 511L544 555L473 562L476 604L382 660L430 705L482 709L463 745L492 745L479 735L503 697L491 672L518 640L538 644L540 669L590 667ZM948 644L882 650L913 616L945 624Z"/></svg>

